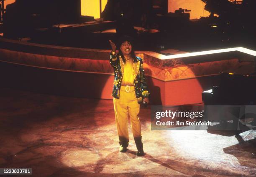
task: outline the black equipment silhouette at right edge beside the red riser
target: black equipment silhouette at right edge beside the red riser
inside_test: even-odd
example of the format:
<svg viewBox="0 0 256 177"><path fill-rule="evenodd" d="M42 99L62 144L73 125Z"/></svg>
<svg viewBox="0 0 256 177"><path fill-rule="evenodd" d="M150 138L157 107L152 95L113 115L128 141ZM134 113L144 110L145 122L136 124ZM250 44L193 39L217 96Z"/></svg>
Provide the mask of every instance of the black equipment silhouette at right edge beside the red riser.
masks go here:
<svg viewBox="0 0 256 177"><path fill-rule="evenodd" d="M256 130L255 110L250 111L256 105L255 90L256 75L221 73L220 85L202 92L204 119L220 122L219 126L209 126L210 130Z"/></svg>

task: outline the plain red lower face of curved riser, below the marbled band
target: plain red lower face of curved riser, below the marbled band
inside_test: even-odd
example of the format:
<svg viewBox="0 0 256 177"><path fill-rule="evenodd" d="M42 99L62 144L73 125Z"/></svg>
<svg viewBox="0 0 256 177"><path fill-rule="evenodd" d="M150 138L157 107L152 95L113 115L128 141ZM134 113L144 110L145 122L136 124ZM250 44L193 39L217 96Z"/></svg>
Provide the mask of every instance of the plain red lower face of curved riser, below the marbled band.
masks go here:
<svg viewBox="0 0 256 177"><path fill-rule="evenodd" d="M68 72L0 62L1 87L28 90L51 95L113 99L113 75ZM218 75L164 82L146 77L151 92L151 104L184 105L202 102L201 93L212 84L218 85ZM187 87L190 85L190 87Z"/></svg>

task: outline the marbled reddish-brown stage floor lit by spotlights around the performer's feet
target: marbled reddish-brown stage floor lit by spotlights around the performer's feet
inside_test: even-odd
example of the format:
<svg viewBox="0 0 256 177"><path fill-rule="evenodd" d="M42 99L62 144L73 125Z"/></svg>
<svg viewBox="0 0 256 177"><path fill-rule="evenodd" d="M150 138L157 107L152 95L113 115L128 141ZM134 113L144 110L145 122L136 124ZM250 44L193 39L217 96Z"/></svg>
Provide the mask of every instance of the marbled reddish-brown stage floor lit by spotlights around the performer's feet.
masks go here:
<svg viewBox="0 0 256 177"><path fill-rule="evenodd" d="M256 131L151 131L142 108L146 155L137 157L130 125L129 150L118 152L112 100L9 88L0 97L1 168L32 168L35 177L256 176Z"/></svg>

